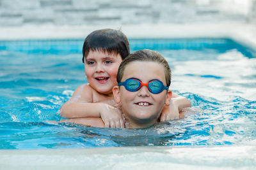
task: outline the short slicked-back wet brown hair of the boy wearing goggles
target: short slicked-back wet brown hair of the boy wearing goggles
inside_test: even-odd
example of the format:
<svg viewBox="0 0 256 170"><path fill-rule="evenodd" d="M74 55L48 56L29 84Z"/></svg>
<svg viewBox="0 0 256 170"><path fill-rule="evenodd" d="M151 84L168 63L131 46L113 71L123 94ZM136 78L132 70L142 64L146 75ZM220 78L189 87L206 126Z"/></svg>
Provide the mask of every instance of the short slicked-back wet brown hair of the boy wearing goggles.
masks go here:
<svg viewBox="0 0 256 170"><path fill-rule="evenodd" d="M170 86L171 79L172 79L171 78L172 73L171 73L171 69L170 69L168 62L166 61L166 59L164 59L164 57L163 57L163 55L161 55L161 53L153 51L153 50L148 50L148 49L139 50L137 52L131 53L130 55L128 55L128 57L126 57L121 62L120 66L118 68L118 73L116 75L116 81L118 83L121 82L121 80L124 76L125 67L129 63L135 62L135 61L152 61L152 62L157 62L157 63L161 64L161 66L164 67L166 86L167 87ZM138 74L140 74L140 73L138 73Z"/></svg>

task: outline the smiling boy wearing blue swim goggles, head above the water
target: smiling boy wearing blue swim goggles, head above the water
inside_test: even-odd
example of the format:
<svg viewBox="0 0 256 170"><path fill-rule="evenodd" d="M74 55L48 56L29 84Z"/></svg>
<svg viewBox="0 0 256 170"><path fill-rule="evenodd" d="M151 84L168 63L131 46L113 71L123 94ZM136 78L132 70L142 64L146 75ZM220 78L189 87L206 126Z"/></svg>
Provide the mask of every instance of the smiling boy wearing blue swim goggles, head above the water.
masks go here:
<svg viewBox="0 0 256 170"><path fill-rule="evenodd" d="M113 88L116 103L121 104L125 127L154 125L164 106L169 107L172 92L171 69L164 57L152 50L140 50L124 59Z"/></svg>

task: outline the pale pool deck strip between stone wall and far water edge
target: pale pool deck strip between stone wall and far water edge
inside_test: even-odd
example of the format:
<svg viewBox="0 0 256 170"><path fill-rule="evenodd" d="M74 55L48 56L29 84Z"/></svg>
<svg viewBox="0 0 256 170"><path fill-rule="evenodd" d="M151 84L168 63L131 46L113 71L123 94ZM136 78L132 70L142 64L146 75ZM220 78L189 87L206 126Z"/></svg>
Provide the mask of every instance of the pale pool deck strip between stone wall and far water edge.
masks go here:
<svg viewBox="0 0 256 170"><path fill-rule="evenodd" d="M121 29L128 38L230 38L256 49L256 25L241 23L221 24L156 24L54 26L25 25L0 27L0 40L16 39L84 39L96 29Z"/></svg>

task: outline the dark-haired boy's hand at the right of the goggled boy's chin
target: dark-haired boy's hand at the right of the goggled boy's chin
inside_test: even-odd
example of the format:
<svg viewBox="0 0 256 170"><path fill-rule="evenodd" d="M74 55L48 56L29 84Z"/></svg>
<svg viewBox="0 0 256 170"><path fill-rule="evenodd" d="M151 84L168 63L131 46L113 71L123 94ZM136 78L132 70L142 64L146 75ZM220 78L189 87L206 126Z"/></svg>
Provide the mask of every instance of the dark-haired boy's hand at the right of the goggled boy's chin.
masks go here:
<svg viewBox="0 0 256 170"><path fill-rule="evenodd" d="M166 122L168 120L174 120L177 118L179 118L179 108L176 106L172 99L169 106L164 106L160 121Z"/></svg>

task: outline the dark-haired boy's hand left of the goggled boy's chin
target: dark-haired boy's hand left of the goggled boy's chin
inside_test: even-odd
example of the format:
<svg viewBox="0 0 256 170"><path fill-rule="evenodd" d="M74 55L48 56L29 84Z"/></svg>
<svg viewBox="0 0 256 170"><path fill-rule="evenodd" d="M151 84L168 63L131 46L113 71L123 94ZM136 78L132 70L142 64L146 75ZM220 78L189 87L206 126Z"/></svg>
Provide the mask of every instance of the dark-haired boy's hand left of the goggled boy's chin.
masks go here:
<svg viewBox="0 0 256 170"><path fill-rule="evenodd" d="M101 105L100 117L102 118L105 127L124 128L124 120L121 111L109 104Z"/></svg>

